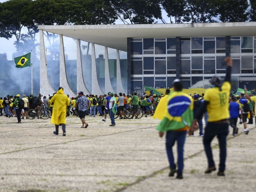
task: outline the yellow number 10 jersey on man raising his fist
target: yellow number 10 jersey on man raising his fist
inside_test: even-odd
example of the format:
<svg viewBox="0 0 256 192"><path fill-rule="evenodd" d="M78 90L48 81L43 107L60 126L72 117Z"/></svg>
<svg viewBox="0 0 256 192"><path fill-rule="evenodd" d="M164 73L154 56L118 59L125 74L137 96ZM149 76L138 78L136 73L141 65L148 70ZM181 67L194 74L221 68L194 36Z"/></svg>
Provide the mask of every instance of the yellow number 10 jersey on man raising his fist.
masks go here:
<svg viewBox="0 0 256 192"><path fill-rule="evenodd" d="M218 87L206 90L204 100L209 102L207 105L209 122L220 121L230 117L228 112L230 89L230 83L225 81L221 86L221 91Z"/></svg>

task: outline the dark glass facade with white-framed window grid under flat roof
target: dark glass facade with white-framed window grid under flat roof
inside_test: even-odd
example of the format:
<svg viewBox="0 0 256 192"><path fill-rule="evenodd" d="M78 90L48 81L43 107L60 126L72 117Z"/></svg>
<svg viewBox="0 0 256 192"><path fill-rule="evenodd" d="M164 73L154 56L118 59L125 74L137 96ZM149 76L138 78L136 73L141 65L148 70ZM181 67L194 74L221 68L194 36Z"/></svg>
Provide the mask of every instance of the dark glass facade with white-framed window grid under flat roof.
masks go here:
<svg viewBox="0 0 256 192"><path fill-rule="evenodd" d="M178 72L184 88L208 88L213 75L225 76L226 54L233 59L233 89L240 77L256 75L256 36L182 37L180 50L176 43L176 37L132 39L131 90L171 88Z"/></svg>

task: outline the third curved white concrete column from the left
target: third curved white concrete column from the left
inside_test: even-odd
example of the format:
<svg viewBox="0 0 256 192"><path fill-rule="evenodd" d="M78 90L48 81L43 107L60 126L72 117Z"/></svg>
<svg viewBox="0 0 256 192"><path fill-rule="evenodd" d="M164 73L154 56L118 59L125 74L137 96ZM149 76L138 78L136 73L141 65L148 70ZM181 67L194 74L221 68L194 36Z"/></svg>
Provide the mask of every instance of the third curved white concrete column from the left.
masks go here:
<svg viewBox="0 0 256 192"><path fill-rule="evenodd" d="M76 40L76 90L78 92L82 91L85 95L90 95L90 92L85 86L85 81L83 79L83 66L81 61L81 47L80 39Z"/></svg>

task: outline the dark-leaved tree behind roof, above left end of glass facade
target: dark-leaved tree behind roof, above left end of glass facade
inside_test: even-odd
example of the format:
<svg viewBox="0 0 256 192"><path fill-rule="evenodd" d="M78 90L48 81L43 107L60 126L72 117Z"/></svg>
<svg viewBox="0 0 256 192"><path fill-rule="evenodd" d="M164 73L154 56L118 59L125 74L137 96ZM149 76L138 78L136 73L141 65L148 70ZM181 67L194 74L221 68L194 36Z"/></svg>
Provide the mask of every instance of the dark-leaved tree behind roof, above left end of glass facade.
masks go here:
<svg viewBox="0 0 256 192"><path fill-rule="evenodd" d="M165 23L160 0L111 0L110 2L118 19L124 24L152 24L155 19L161 19Z"/></svg>

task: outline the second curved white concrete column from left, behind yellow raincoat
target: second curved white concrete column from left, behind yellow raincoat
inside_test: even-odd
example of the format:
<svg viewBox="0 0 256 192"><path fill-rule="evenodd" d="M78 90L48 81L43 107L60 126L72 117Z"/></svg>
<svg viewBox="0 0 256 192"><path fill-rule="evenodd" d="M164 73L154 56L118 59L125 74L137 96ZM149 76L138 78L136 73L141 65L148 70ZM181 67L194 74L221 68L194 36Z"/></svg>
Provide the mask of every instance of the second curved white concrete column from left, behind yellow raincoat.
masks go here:
<svg viewBox="0 0 256 192"><path fill-rule="evenodd" d="M76 97L77 94L71 90L69 83L67 81L64 44L62 35L60 35L60 86L63 87L64 93L66 95Z"/></svg>

